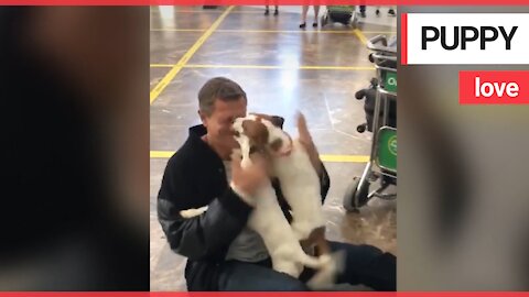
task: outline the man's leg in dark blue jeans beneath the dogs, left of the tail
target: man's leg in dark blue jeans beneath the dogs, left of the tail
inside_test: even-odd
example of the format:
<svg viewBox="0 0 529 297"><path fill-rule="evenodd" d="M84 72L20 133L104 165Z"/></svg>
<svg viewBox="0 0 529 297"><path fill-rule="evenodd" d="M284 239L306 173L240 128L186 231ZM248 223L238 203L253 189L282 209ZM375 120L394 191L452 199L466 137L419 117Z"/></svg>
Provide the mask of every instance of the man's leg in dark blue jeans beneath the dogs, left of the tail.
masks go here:
<svg viewBox="0 0 529 297"><path fill-rule="evenodd" d="M309 290L305 284L288 274L238 261L231 261L222 266L218 289L223 292Z"/></svg>

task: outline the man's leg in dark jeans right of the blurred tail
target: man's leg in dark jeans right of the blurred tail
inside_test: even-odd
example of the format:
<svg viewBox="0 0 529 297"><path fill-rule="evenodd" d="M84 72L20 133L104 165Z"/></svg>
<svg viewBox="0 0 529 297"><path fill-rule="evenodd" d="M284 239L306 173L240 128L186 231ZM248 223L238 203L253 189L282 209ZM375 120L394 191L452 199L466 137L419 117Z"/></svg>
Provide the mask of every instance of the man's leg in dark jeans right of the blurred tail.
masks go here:
<svg viewBox="0 0 529 297"><path fill-rule="evenodd" d="M334 251L345 252L344 272L338 284L363 284L376 290L397 289L397 257L373 245L330 242Z"/></svg>

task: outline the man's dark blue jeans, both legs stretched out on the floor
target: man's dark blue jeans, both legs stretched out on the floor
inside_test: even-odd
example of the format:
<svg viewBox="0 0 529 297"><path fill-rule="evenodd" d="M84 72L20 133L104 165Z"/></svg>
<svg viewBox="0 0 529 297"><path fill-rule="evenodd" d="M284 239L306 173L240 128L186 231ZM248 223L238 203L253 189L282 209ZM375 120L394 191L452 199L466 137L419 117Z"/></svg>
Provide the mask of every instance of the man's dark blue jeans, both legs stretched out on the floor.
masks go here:
<svg viewBox="0 0 529 297"><path fill-rule="evenodd" d="M373 245L341 242L330 242L330 244L333 251L344 251L346 255L345 270L337 277L338 284L361 284L375 290L396 290L397 258L395 255L384 253ZM305 275L305 272L302 275ZM219 272L218 283L219 290L309 290L302 280L273 271L270 261L227 262Z"/></svg>

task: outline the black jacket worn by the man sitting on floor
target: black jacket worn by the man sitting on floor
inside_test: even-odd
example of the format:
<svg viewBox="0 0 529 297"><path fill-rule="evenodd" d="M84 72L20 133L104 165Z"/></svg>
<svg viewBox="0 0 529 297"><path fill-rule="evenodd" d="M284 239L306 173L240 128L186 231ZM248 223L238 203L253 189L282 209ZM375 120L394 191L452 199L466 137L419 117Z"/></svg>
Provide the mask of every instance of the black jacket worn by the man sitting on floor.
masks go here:
<svg viewBox="0 0 529 297"><path fill-rule="evenodd" d="M203 125L192 127L184 145L169 160L158 196L158 217L171 249L188 258L185 278L190 290L216 290L217 267L234 239L246 226L251 207L226 180L223 161L201 139ZM322 174L322 201L330 183ZM279 183L272 182L279 202L290 220ZM208 206L191 219L180 211Z"/></svg>

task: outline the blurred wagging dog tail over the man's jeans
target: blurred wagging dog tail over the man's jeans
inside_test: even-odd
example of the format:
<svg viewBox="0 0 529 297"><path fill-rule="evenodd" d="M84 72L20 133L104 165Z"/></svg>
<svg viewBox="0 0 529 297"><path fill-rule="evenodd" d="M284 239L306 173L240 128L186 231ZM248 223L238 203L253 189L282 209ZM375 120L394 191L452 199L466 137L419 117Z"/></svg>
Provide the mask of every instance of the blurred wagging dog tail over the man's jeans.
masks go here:
<svg viewBox="0 0 529 297"><path fill-rule="evenodd" d="M320 270L314 276L306 282L312 290L331 289L336 283L336 277L345 268L345 252L337 251L333 254L324 254L320 256L323 262Z"/></svg>

